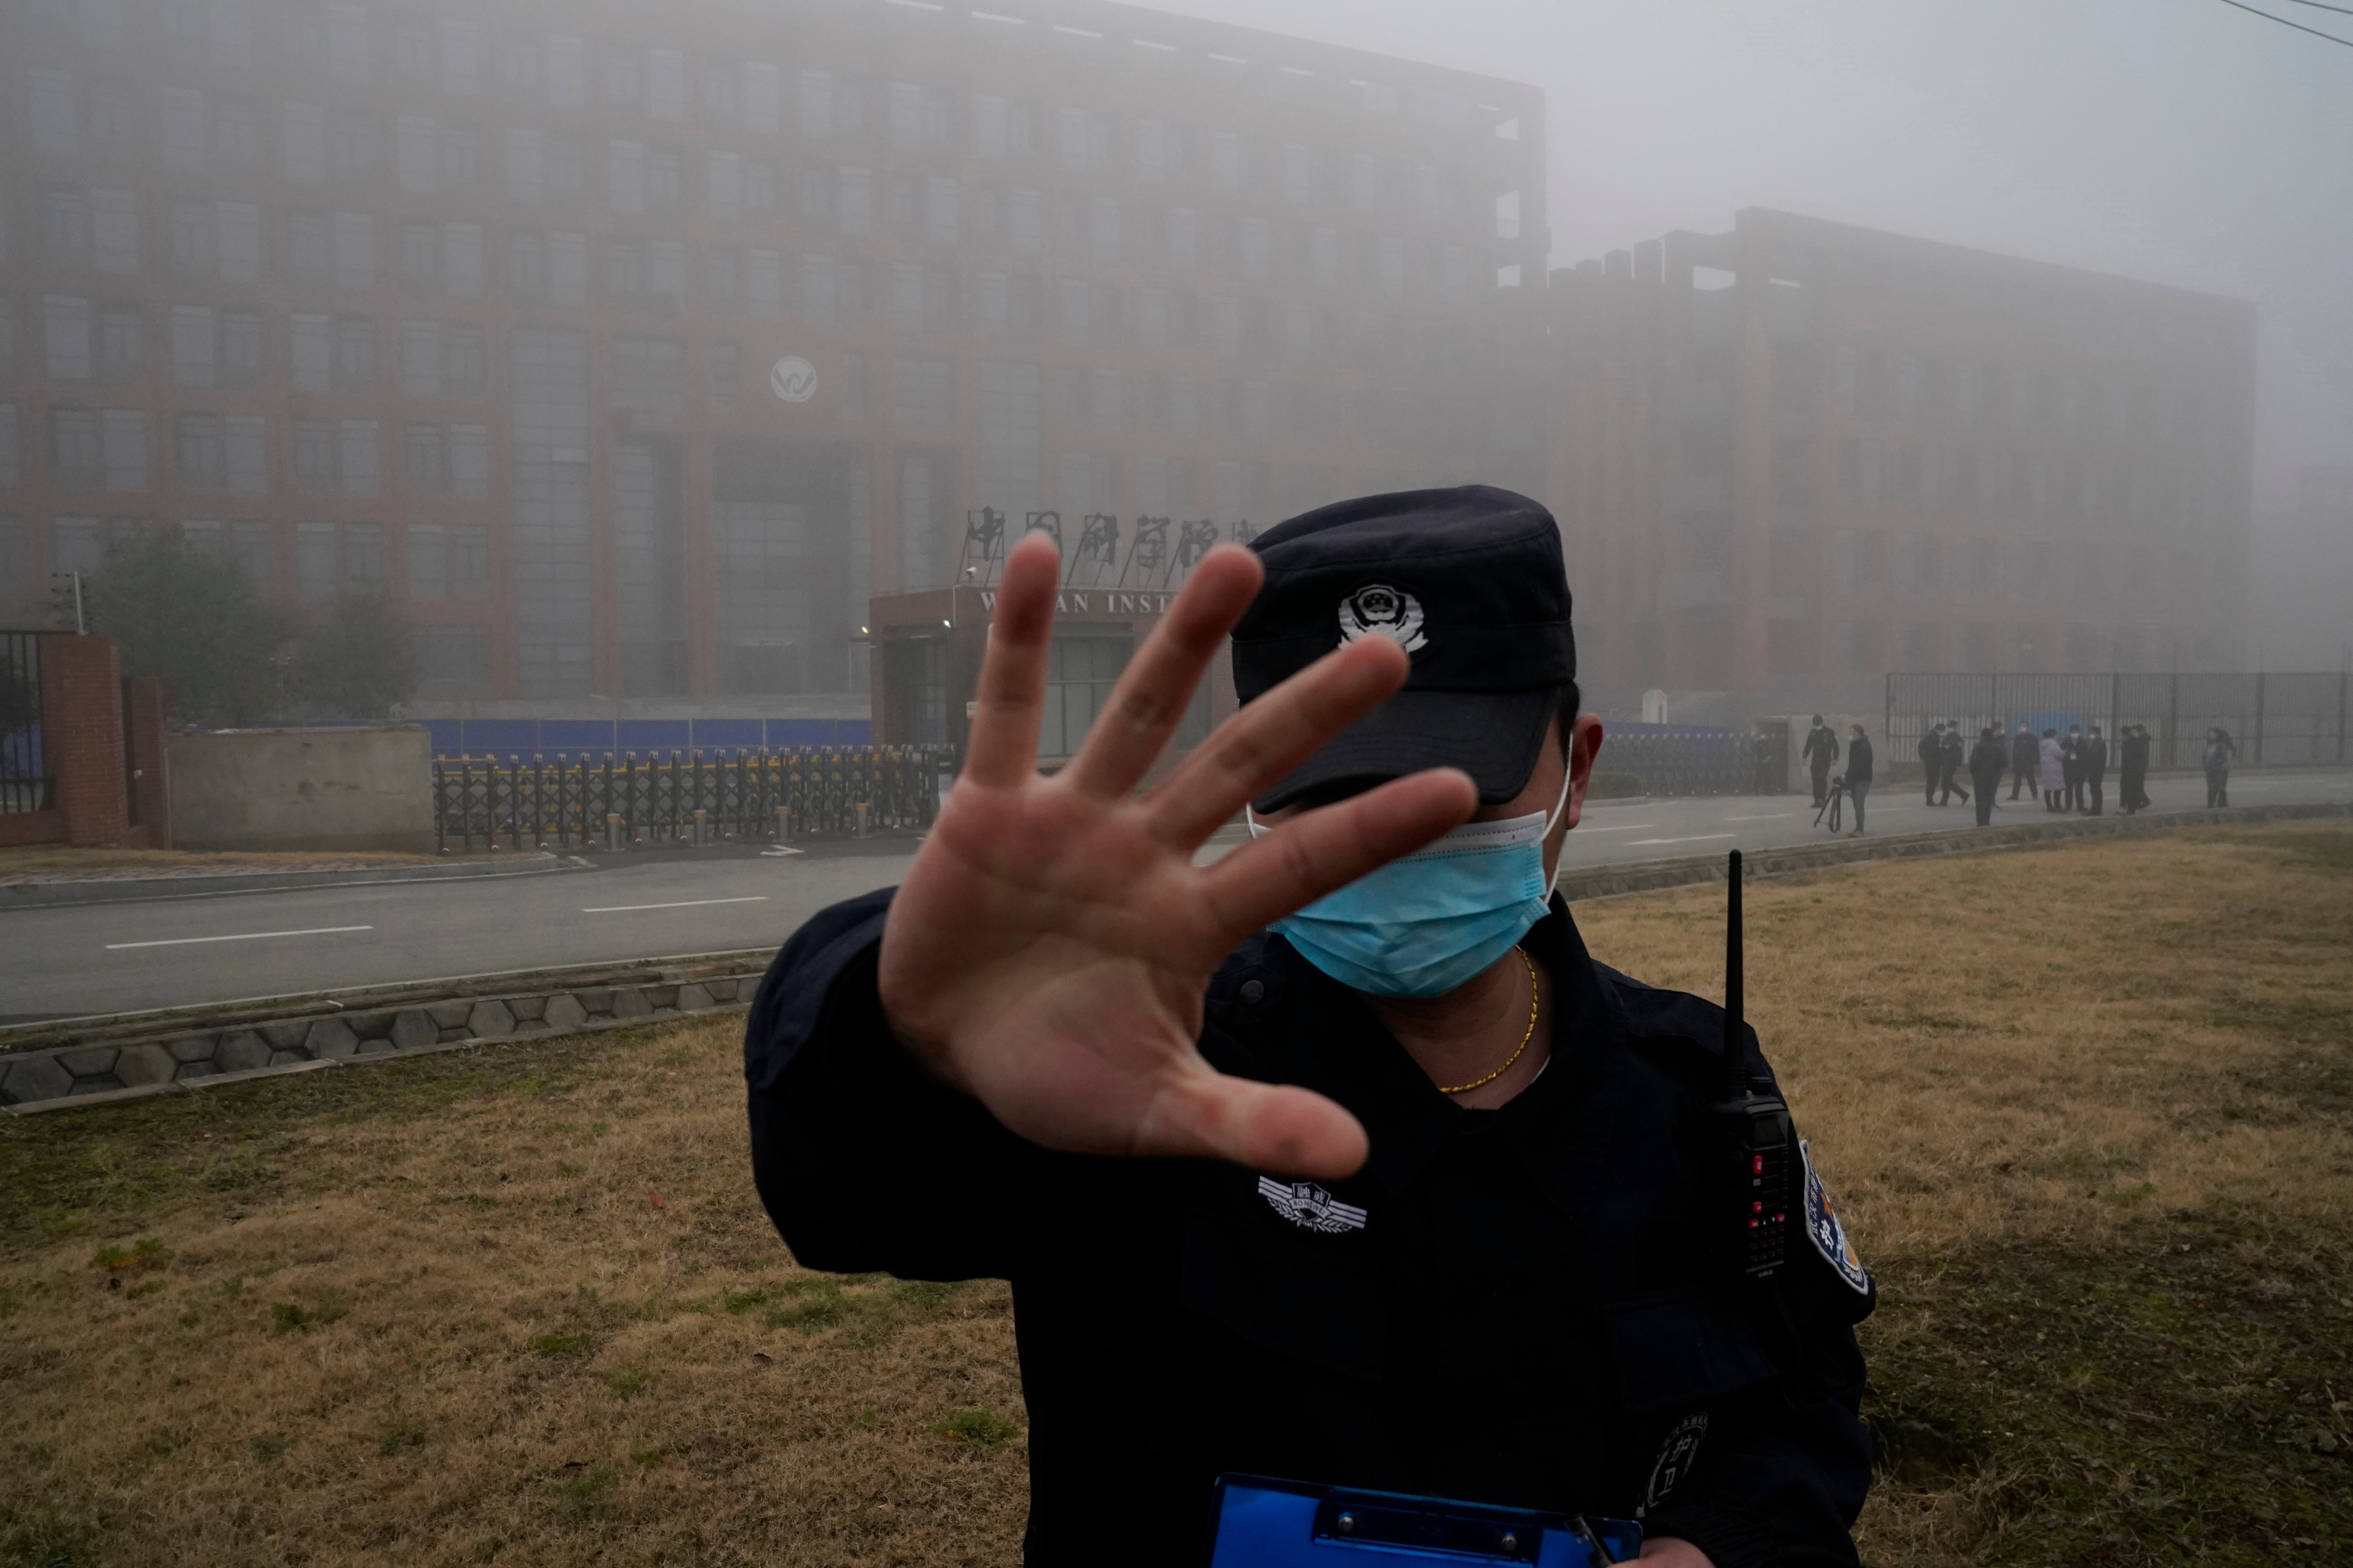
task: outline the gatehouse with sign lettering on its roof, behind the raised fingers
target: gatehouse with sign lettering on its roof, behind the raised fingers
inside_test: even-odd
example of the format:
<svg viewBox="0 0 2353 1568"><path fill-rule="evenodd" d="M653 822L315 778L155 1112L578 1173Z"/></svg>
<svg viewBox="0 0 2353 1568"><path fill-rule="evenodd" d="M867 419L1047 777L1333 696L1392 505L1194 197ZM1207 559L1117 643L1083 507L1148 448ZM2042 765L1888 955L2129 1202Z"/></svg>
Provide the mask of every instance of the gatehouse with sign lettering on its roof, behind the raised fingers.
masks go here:
<svg viewBox="0 0 2353 1568"><path fill-rule="evenodd" d="M1038 764L1054 771L1078 752L1127 661L1167 614L1200 557L1221 534L1235 541L1252 534L1249 524L1221 529L1207 520L1167 517L1122 524L1101 512L1085 517L1071 541L1064 541L1056 512L1031 512L1024 531L1052 534L1064 552L1054 642L1047 651L1045 719L1038 731ZM873 644L880 745L953 745L958 757L965 755L1005 548L1002 512L979 508L965 520L960 581L953 588L873 599L866 635ZM1228 644L1212 661L1151 778L1167 773L1176 757L1200 745L1233 710Z"/></svg>

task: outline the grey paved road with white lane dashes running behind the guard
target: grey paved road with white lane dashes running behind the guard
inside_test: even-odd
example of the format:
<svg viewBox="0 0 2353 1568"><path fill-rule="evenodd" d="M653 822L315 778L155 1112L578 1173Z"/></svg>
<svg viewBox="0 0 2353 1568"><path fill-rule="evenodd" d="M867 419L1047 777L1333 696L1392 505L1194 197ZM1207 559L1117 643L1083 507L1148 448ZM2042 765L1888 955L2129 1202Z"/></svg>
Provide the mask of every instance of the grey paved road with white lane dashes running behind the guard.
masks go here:
<svg viewBox="0 0 2353 1568"><path fill-rule="evenodd" d="M2151 785L2155 809L2205 804L2195 776ZM2113 788L2111 788L2113 799ZM2231 804L2353 802L2353 769L2240 771ZM2042 820L2005 797L1995 823ZM1871 832L1974 827L1962 804L1922 806L1915 788L1871 797ZM1569 835L1565 865L1609 865L1819 839L1805 797L1609 804ZM1221 835L1205 849L1231 849ZM219 898L0 912L0 1023L118 1013L433 980L548 964L718 952L779 943L838 898L894 884L899 844L814 846L802 856L661 851L593 870L494 882L393 882Z"/></svg>

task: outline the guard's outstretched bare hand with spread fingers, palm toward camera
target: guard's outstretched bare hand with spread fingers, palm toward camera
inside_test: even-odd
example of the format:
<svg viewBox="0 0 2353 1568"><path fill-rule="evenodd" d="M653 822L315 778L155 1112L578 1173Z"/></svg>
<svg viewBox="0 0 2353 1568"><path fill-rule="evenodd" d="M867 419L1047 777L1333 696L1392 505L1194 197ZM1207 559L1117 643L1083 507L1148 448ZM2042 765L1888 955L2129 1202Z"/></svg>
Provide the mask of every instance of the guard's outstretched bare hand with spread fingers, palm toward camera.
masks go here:
<svg viewBox="0 0 2353 1568"><path fill-rule="evenodd" d="M934 1074L1014 1133L1082 1154L1188 1154L1348 1175L1365 1128L1306 1088L1202 1060L1209 973L1266 922L1421 849L1478 804L1452 769L1301 813L1217 865L1193 851L1254 795L1405 684L1365 637L1242 708L1158 788L1136 783L1184 719L1259 559L1212 550L1136 651L1078 757L1038 773L1054 545L1005 562L965 771L882 929L882 1013Z"/></svg>

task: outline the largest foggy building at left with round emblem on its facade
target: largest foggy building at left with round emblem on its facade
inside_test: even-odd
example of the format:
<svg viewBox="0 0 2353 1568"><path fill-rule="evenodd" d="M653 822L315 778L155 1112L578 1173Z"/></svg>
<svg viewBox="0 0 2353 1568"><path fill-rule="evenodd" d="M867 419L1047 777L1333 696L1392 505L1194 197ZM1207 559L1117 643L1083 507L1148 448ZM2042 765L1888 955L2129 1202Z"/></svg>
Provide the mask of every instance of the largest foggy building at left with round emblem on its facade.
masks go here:
<svg viewBox="0 0 2353 1568"><path fill-rule="evenodd" d="M0 9L0 597L165 524L435 701L791 712L981 508L1541 487L1537 89L991 5Z"/></svg>

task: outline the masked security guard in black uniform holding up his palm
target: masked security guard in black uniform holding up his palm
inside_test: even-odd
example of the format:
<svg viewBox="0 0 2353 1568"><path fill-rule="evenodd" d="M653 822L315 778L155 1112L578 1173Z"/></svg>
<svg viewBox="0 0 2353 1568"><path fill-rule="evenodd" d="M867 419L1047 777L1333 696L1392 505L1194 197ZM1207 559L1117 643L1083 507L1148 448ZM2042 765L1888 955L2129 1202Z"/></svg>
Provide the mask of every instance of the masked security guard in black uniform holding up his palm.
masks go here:
<svg viewBox="0 0 2353 1568"><path fill-rule="evenodd" d="M1871 1276L1807 1161L1739 1281L1722 1013L1551 893L1602 741L1551 515L1409 491L1212 552L1040 776L1054 581L1012 552L906 882L802 926L746 1034L800 1262L1012 1281L1026 1561L1195 1563L1252 1472L1852 1566ZM1242 710L1139 795L1228 630Z"/></svg>

